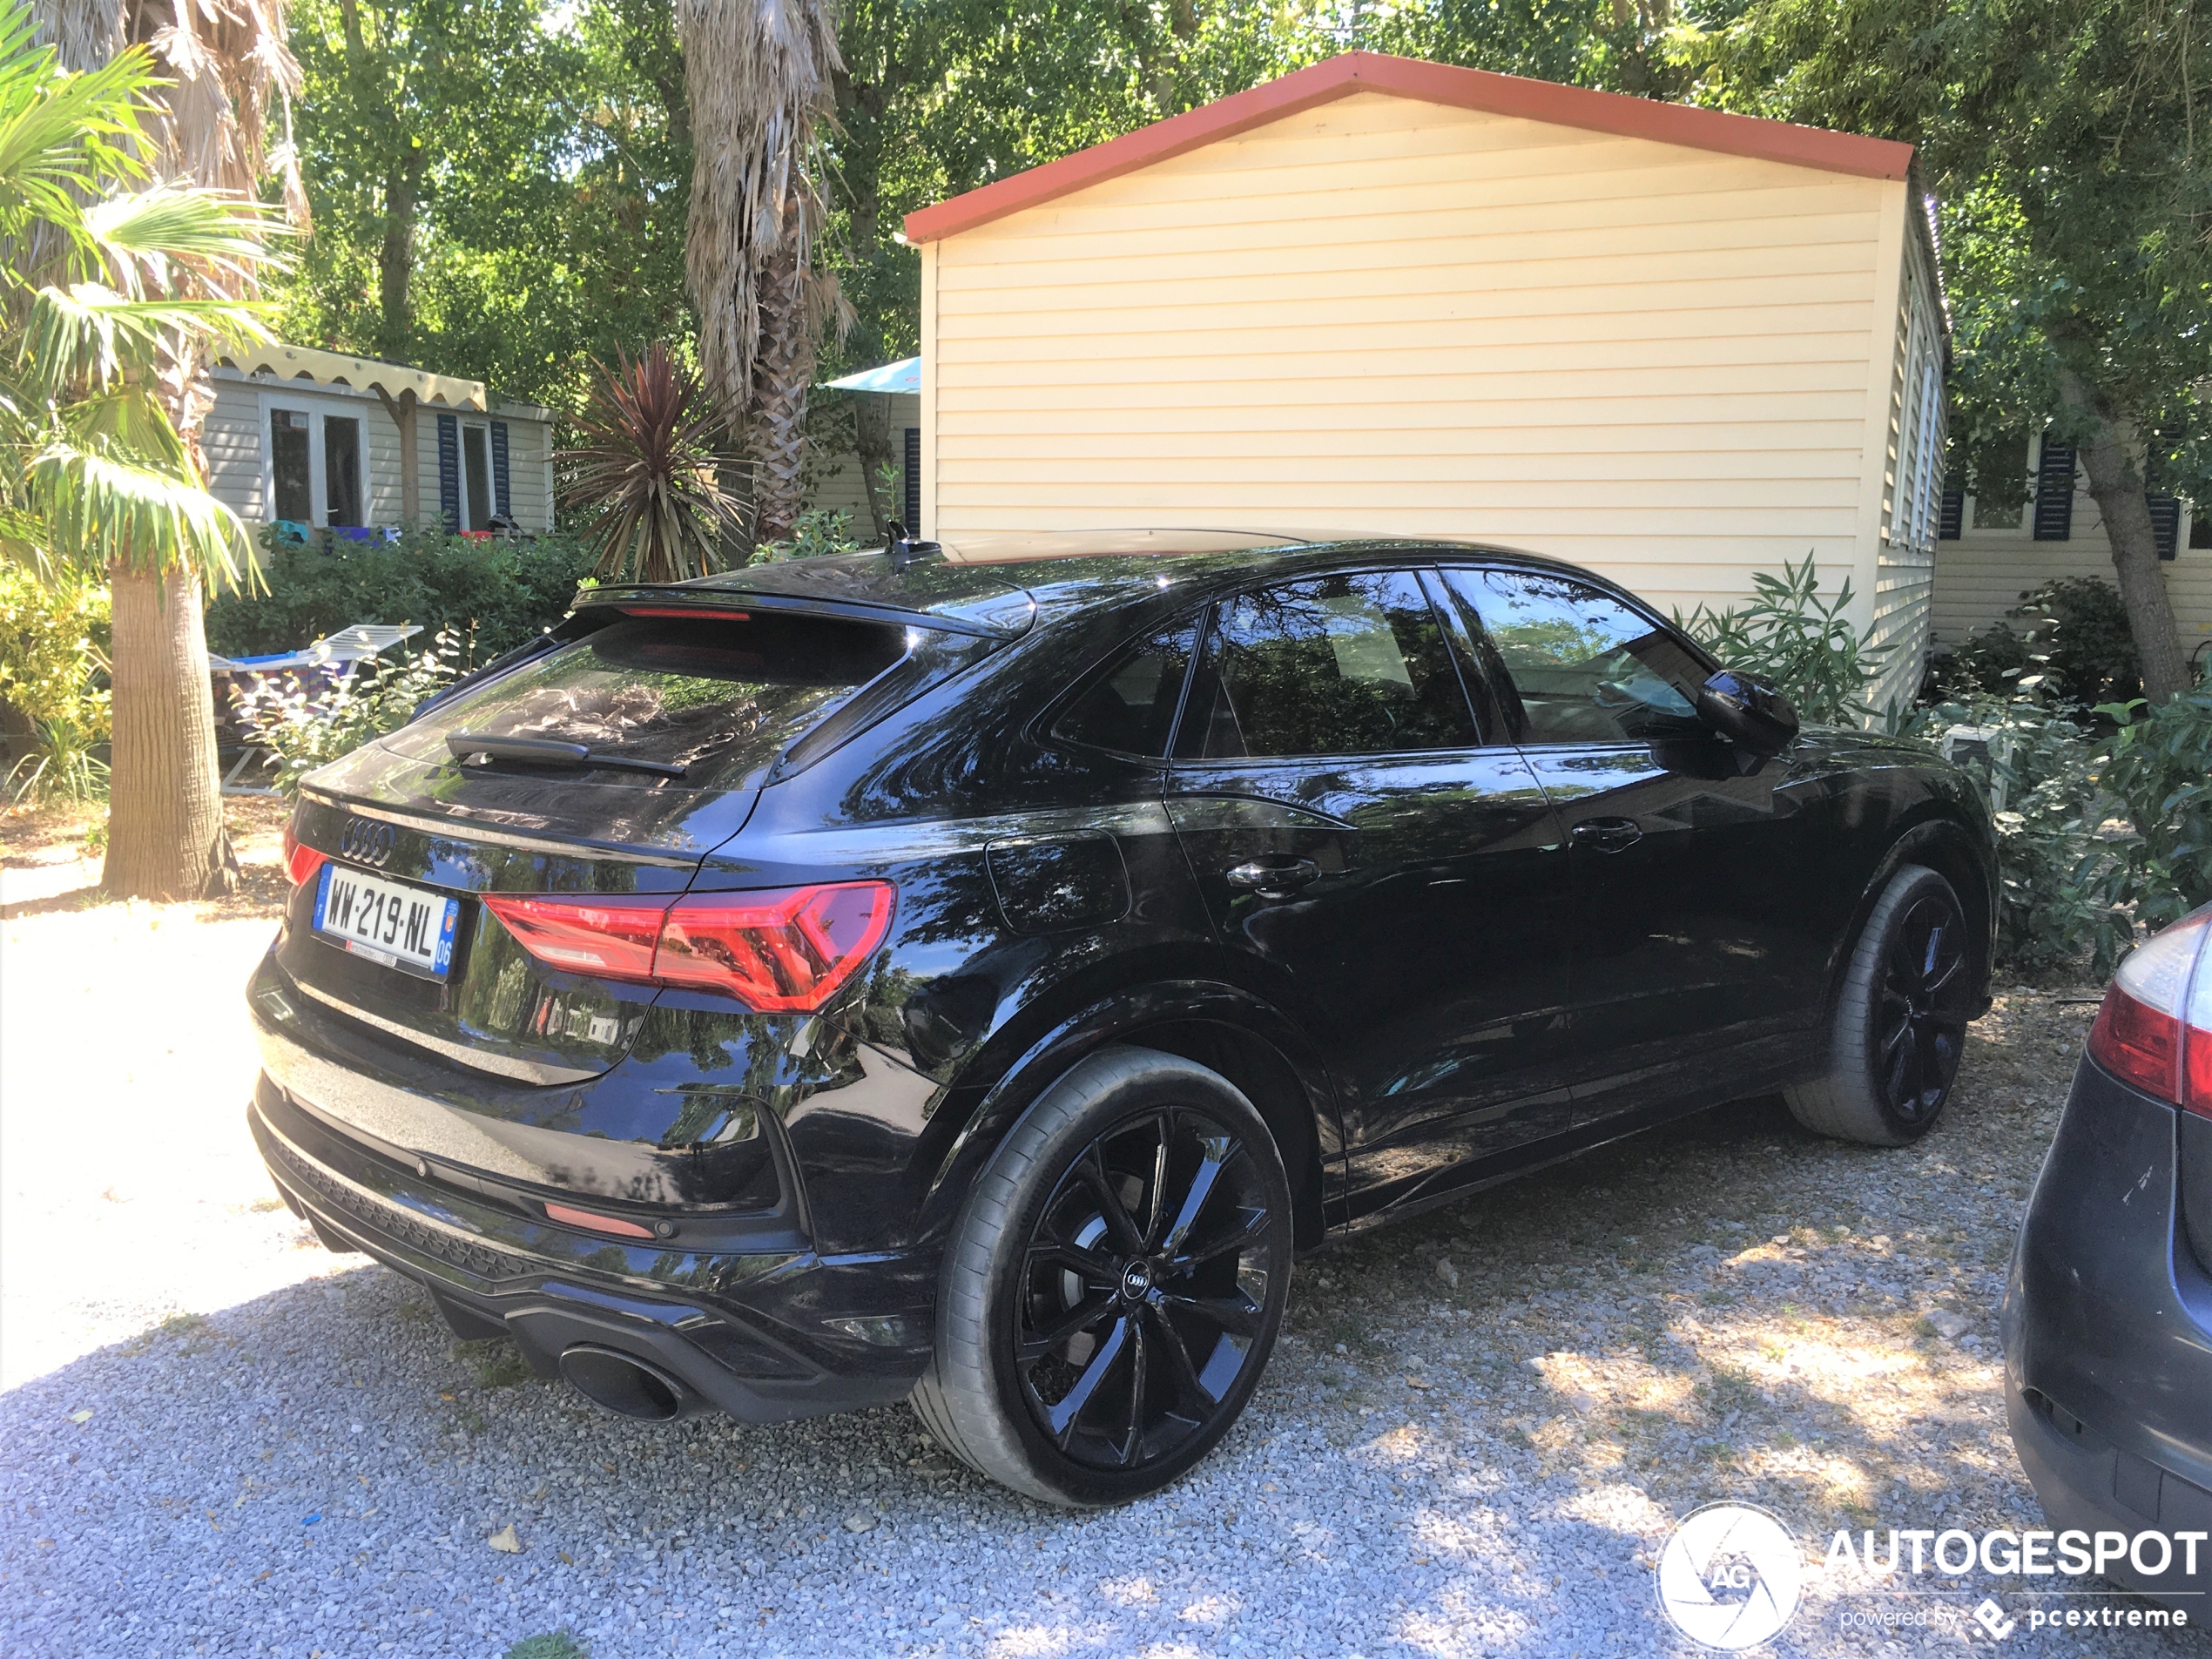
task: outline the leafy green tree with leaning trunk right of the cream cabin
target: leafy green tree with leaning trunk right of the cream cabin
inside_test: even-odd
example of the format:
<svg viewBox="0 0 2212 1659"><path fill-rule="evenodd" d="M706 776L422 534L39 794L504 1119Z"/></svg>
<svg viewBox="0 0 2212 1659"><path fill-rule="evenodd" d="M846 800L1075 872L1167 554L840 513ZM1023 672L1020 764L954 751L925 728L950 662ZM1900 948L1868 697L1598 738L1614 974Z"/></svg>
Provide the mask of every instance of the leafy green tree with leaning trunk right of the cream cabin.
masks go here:
<svg viewBox="0 0 2212 1659"><path fill-rule="evenodd" d="M1958 425L2051 420L2104 513L2143 688L2188 686L2146 471L2212 500L2212 29L2194 0L1759 0L1699 97L1920 146Z"/></svg>

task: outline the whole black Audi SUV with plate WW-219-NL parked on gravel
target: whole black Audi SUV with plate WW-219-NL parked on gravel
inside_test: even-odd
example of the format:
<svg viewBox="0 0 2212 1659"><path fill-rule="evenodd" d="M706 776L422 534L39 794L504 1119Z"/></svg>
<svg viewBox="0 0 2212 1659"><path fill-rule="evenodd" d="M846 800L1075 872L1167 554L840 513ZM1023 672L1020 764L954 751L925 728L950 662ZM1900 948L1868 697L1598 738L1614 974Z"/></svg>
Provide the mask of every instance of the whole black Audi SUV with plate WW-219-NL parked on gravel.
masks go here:
<svg viewBox="0 0 2212 1659"><path fill-rule="evenodd" d="M250 1117L325 1243L1064 1504L1206 1455L1332 1234L1761 1091L1909 1141L1989 1002L1964 774L1486 546L595 588L290 834Z"/></svg>

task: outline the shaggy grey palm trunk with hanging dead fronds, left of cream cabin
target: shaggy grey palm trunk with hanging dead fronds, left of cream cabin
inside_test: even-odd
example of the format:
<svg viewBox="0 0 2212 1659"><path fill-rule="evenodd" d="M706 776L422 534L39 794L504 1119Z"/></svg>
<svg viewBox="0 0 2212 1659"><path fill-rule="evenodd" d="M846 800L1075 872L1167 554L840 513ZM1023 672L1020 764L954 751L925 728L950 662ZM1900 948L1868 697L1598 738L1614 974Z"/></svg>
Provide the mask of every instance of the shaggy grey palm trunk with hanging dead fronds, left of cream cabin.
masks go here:
<svg viewBox="0 0 2212 1659"><path fill-rule="evenodd" d="M841 69L827 0L677 0L692 122L684 270L699 365L752 462L757 542L792 533L801 502L814 341L843 321L816 263L818 122Z"/></svg>

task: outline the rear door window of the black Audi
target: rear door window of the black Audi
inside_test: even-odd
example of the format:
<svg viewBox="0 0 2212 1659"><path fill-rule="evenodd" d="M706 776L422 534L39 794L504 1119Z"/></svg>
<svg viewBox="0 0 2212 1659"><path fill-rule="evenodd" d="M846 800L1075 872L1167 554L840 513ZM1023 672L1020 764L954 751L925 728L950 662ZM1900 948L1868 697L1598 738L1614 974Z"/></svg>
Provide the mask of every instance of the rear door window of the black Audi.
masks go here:
<svg viewBox="0 0 2212 1659"><path fill-rule="evenodd" d="M1413 571L1356 571L1214 606L1179 754L1471 748L1473 712Z"/></svg>

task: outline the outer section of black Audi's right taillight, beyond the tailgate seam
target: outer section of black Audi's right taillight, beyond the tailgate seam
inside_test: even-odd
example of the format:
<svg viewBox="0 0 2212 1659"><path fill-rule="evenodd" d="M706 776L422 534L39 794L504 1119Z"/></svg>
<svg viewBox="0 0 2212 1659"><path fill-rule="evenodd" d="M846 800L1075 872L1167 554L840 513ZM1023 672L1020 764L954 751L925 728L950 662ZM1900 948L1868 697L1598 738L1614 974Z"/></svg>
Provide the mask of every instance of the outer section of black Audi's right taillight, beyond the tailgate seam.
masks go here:
<svg viewBox="0 0 2212 1659"><path fill-rule="evenodd" d="M891 929L891 885L692 894L661 929L653 978L728 991L761 1013L818 1009Z"/></svg>

